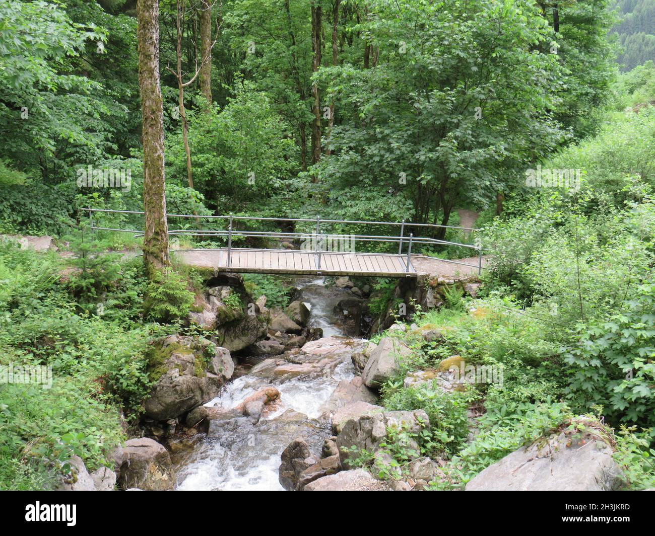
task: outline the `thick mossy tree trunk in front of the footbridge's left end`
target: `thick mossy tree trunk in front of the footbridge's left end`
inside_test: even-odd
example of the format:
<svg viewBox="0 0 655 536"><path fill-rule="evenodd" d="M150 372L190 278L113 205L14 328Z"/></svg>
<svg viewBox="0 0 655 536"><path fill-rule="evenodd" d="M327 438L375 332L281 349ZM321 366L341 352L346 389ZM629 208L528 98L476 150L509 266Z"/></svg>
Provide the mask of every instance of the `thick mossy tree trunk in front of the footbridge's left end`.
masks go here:
<svg viewBox="0 0 655 536"><path fill-rule="evenodd" d="M164 109L159 87L159 0L138 0L139 91L143 118L143 262L152 276L170 265L164 177Z"/></svg>

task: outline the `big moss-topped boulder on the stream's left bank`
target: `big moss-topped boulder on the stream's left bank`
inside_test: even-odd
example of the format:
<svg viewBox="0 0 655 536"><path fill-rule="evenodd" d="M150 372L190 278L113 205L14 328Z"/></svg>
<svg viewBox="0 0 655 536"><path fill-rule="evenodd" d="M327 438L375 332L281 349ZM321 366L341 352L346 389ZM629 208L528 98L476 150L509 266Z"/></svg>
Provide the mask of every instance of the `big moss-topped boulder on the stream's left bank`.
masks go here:
<svg viewBox="0 0 655 536"><path fill-rule="evenodd" d="M157 421L209 402L234 371L229 352L205 338L164 337L151 346L147 357L150 376L157 383L145 400L145 413Z"/></svg>

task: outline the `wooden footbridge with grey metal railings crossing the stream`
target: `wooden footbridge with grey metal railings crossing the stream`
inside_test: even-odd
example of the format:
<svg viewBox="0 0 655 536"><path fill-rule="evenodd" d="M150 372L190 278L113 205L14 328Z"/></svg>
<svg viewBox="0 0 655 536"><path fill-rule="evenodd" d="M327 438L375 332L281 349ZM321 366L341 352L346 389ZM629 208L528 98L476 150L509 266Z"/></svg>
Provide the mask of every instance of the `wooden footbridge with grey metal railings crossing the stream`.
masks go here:
<svg viewBox="0 0 655 536"><path fill-rule="evenodd" d="M103 226L103 215L124 214L130 217L143 215L140 211L114 211L109 209L84 209L88 211L92 229L130 232L135 236L143 236L143 230L123 229ZM482 268L481 245L464 244L438 240L425 236L415 236L407 230L434 230L447 227L472 232L476 229L468 227L442 226L433 224L416 224L373 221L324 220L301 218L261 218L246 216L196 216L187 214L168 214L169 230L172 237L187 236L189 238L219 238L223 247L175 249L176 257L184 264L202 268L214 268L218 272L237 272L248 274L300 274L315 276L371 276L371 277L417 277L418 272L413 266L412 247L417 245L457 245L474 249L477 252L477 265L459 260L441 260L471 268L477 268L479 274ZM94 218L95 223L94 224ZM98 223L98 220L101 223ZM187 222L185 228L172 228L170 222L181 219ZM202 224L200 224L202 221ZM208 224L218 223L221 228L208 229ZM221 225L222 224L222 225ZM293 228L290 232L274 232L261 230L266 225L286 226ZM194 227L195 228L190 228ZM216 225L214 225L215 227ZM347 230L381 226L397 228L396 235L346 234ZM295 232L296 228L305 228L305 232ZM311 230L309 230L309 227ZM324 232L326 227L338 228L341 233ZM241 247L243 243L263 242L271 247ZM206 240L206 239L204 239ZM240 247L234 247L238 243ZM367 249L379 249L381 243L398 245L398 253L370 253L356 251L356 245L367 244ZM258 244L260 245L260 244ZM376 247L377 246L377 247ZM360 247L361 249L361 247ZM395 247L394 247L395 249ZM462 259L463 260L463 259ZM468 259L467 259L468 260Z"/></svg>

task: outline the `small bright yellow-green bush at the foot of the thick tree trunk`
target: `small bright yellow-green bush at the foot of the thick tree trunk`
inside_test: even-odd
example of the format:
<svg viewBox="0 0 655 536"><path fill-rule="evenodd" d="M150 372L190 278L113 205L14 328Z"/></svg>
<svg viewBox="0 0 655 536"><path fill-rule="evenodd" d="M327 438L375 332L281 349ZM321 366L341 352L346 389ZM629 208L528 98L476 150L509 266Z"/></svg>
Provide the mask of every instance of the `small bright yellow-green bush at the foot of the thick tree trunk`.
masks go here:
<svg viewBox="0 0 655 536"><path fill-rule="evenodd" d="M185 317L193 300L187 279L164 268L153 274L145 289L144 310L148 318L167 323Z"/></svg>

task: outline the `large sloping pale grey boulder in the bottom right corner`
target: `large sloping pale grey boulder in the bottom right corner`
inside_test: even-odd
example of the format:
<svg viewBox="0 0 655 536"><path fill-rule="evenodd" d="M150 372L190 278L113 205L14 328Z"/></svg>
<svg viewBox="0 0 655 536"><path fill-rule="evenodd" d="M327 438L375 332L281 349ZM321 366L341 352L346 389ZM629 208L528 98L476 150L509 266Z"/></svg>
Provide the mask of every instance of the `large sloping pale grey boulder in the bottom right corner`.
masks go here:
<svg viewBox="0 0 655 536"><path fill-rule="evenodd" d="M621 486L621 476L612 448L593 428L567 429L496 461L470 480L466 491L612 491Z"/></svg>

